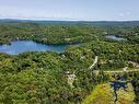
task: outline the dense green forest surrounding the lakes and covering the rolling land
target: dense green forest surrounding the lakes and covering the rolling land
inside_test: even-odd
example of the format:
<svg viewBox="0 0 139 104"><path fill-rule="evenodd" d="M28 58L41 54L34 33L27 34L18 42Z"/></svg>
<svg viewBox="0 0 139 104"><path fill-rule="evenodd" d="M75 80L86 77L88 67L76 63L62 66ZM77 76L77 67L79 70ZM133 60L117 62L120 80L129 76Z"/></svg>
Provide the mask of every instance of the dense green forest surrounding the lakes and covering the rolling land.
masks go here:
<svg viewBox="0 0 139 104"><path fill-rule="evenodd" d="M112 80L112 74L106 71L139 70L139 26L114 24L0 22L1 45L14 41L83 43L69 47L65 53L0 53L0 103L81 104L96 85ZM106 38L107 35L126 41L113 41ZM96 65L90 69L96 56ZM132 81L138 104L139 73L127 72L125 76Z"/></svg>

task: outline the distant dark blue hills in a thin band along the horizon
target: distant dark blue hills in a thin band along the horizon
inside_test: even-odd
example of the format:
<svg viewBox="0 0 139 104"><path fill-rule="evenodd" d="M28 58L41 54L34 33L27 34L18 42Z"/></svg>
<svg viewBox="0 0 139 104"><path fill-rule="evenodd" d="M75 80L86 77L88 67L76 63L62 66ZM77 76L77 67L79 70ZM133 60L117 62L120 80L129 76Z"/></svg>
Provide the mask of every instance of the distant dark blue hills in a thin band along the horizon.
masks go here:
<svg viewBox="0 0 139 104"><path fill-rule="evenodd" d="M0 19L0 24L26 22L37 23L42 25L139 26L139 21L34 21L18 19Z"/></svg>

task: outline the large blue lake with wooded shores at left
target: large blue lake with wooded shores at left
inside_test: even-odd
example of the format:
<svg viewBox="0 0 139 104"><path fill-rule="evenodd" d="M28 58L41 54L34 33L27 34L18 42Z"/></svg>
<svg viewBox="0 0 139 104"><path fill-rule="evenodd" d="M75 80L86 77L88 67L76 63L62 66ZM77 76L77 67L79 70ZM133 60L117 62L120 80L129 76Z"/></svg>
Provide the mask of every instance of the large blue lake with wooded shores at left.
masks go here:
<svg viewBox="0 0 139 104"><path fill-rule="evenodd" d="M80 44L73 44L79 46ZM71 45L47 45L38 44L33 41L15 41L11 45L0 45L0 53L7 53L9 55L19 55L25 51L56 51L63 53Z"/></svg>

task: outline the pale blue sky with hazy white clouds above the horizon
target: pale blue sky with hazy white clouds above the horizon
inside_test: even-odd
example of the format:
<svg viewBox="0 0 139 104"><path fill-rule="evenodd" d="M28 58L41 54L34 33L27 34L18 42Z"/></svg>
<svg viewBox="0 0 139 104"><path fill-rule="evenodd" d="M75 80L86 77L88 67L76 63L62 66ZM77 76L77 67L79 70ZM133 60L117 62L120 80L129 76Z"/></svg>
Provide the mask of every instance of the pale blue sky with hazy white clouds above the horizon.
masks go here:
<svg viewBox="0 0 139 104"><path fill-rule="evenodd" d="M138 21L139 0L0 0L0 19Z"/></svg>

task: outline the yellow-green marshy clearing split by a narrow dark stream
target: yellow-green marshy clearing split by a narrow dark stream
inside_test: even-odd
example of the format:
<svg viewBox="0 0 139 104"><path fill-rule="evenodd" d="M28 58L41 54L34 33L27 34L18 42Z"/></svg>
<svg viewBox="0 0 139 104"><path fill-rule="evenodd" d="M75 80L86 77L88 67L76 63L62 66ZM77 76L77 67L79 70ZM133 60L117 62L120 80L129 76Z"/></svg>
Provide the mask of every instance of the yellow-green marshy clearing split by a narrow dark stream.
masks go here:
<svg viewBox="0 0 139 104"><path fill-rule="evenodd" d="M117 91L117 104L135 104L135 93L132 85L129 83L127 91L119 89ZM82 104L114 104L115 94L109 83L97 85L93 92L83 101Z"/></svg>

